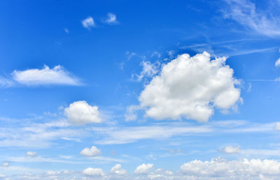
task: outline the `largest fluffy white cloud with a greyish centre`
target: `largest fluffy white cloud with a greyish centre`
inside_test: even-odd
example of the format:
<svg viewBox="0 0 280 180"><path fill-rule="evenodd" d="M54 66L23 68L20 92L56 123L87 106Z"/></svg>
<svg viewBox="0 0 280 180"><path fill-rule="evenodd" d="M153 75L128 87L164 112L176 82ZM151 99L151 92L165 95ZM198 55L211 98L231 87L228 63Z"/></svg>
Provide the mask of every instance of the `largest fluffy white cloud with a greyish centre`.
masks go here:
<svg viewBox="0 0 280 180"><path fill-rule="evenodd" d="M139 96L146 115L154 119L208 121L214 107L227 110L240 98L239 84L226 57L210 59L203 52L194 57L182 54L162 67Z"/></svg>

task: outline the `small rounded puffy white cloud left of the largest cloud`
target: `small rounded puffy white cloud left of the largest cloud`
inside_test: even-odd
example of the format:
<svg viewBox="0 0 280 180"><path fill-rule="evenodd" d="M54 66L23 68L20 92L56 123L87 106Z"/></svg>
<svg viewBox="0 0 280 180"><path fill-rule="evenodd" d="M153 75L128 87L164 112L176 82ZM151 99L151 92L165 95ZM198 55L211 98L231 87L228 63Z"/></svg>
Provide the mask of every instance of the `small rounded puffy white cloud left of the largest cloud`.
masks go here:
<svg viewBox="0 0 280 180"><path fill-rule="evenodd" d="M86 124L86 123L101 123L102 117L98 107L87 104L85 100L79 100L71 103L69 107L64 109L64 114L71 123Z"/></svg>

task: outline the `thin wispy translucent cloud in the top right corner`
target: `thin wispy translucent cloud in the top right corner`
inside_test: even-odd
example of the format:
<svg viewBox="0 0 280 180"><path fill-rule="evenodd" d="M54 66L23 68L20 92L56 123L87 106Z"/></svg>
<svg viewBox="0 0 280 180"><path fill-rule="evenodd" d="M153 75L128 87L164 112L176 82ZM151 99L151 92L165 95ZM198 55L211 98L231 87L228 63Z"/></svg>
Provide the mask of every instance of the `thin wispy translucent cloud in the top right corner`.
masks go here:
<svg viewBox="0 0 280 180"><path fill-rule="evenodd" d="M265 6L262 6L260 10L250 0L225 0L225 2L228 3L228 6L223 9L225 18L235 20L266 36L280 35L279 7L270 5L270 9L264 10Z"/></svg>

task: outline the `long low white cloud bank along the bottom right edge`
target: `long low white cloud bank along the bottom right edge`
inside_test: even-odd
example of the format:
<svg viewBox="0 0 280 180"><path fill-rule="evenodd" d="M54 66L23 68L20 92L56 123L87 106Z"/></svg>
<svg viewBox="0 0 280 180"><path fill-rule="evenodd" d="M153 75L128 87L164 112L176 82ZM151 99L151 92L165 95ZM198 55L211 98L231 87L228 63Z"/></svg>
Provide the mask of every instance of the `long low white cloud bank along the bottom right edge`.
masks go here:
<svg viewBox="0 0 280 180"><path fill-rule="evenodd" d="M222 158L211 161L193 160L181 165L181 172L194 179L219 177L221 179L251 179L260 175L280 174L280 163L278 160L225 160Z"/></svg>

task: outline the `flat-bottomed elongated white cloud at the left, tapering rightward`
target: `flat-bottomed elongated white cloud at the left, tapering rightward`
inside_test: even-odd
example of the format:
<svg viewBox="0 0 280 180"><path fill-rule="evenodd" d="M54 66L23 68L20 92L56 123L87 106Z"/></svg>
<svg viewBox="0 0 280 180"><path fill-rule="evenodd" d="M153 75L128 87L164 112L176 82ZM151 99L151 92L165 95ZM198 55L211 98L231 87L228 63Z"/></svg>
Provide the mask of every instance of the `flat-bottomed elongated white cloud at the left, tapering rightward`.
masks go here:
<svg viewBox="0 0 280 180"><path fill-rule="evenodd" d="M68 73L62 66L55 66L54 68L44 66L42 69L14 70L12 76L16 82L26 85L80 85L78 79Z"/></svg>

